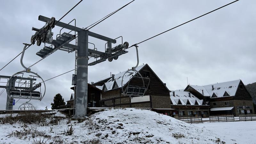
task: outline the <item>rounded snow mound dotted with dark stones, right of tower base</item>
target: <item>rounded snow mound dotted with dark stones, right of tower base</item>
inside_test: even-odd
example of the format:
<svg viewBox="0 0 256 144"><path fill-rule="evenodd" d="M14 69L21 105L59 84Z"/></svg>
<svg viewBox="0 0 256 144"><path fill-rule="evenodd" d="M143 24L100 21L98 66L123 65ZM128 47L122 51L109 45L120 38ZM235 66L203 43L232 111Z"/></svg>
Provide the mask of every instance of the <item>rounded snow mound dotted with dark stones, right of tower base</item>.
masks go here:
<svg viewBox="0 0 256 144"><path fill-rule="evenodd" d="M150 110L112 108L92 115L84 123L87 136L109 143L216 143L213 133Z"/></svg>

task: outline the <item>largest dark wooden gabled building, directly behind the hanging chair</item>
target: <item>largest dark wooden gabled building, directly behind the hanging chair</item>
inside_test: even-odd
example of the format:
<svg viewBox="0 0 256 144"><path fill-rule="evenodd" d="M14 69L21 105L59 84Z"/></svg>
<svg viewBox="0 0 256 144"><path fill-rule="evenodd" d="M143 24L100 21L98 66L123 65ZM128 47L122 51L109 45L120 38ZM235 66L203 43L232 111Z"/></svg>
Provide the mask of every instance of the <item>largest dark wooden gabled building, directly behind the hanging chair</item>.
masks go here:
<svg viewBox="0 0 256 144"><path fill-rule="evenodd" d="M152 108L156 112L170 115L170 111L172 110L169 94L170 91L166 85L159 79L148 64L141 65L137 67L136 70L139 71L144 78L144 85L139 75L133 71L126 74L121 72L97 83L93 83L92 85L104 91L100 100L100 106L118 108ZM126 96L123 94L122 90L122 78L124 90L128 85L148 87L148 90L145 92L143 97L132 95Z"/></svg>

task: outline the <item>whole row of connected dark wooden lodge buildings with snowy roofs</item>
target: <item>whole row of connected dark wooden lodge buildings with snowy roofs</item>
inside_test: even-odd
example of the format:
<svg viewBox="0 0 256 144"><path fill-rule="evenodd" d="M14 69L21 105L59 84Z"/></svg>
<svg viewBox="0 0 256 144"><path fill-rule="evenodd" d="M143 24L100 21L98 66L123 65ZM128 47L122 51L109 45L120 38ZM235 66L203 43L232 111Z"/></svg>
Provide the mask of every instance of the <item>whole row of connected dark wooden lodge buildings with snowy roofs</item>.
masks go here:
<svg viewBox="0 0 256 144"><path fill-rule="evenodd" d="M88 107L148 108L173 117L238 116L255 112L252 97L241 80L187 85L183 90L170 91L148 64L136 70L141 76L136 71L124 71L88 84ZM72 94L66 108L73 108L73 97Z"/></svg>

